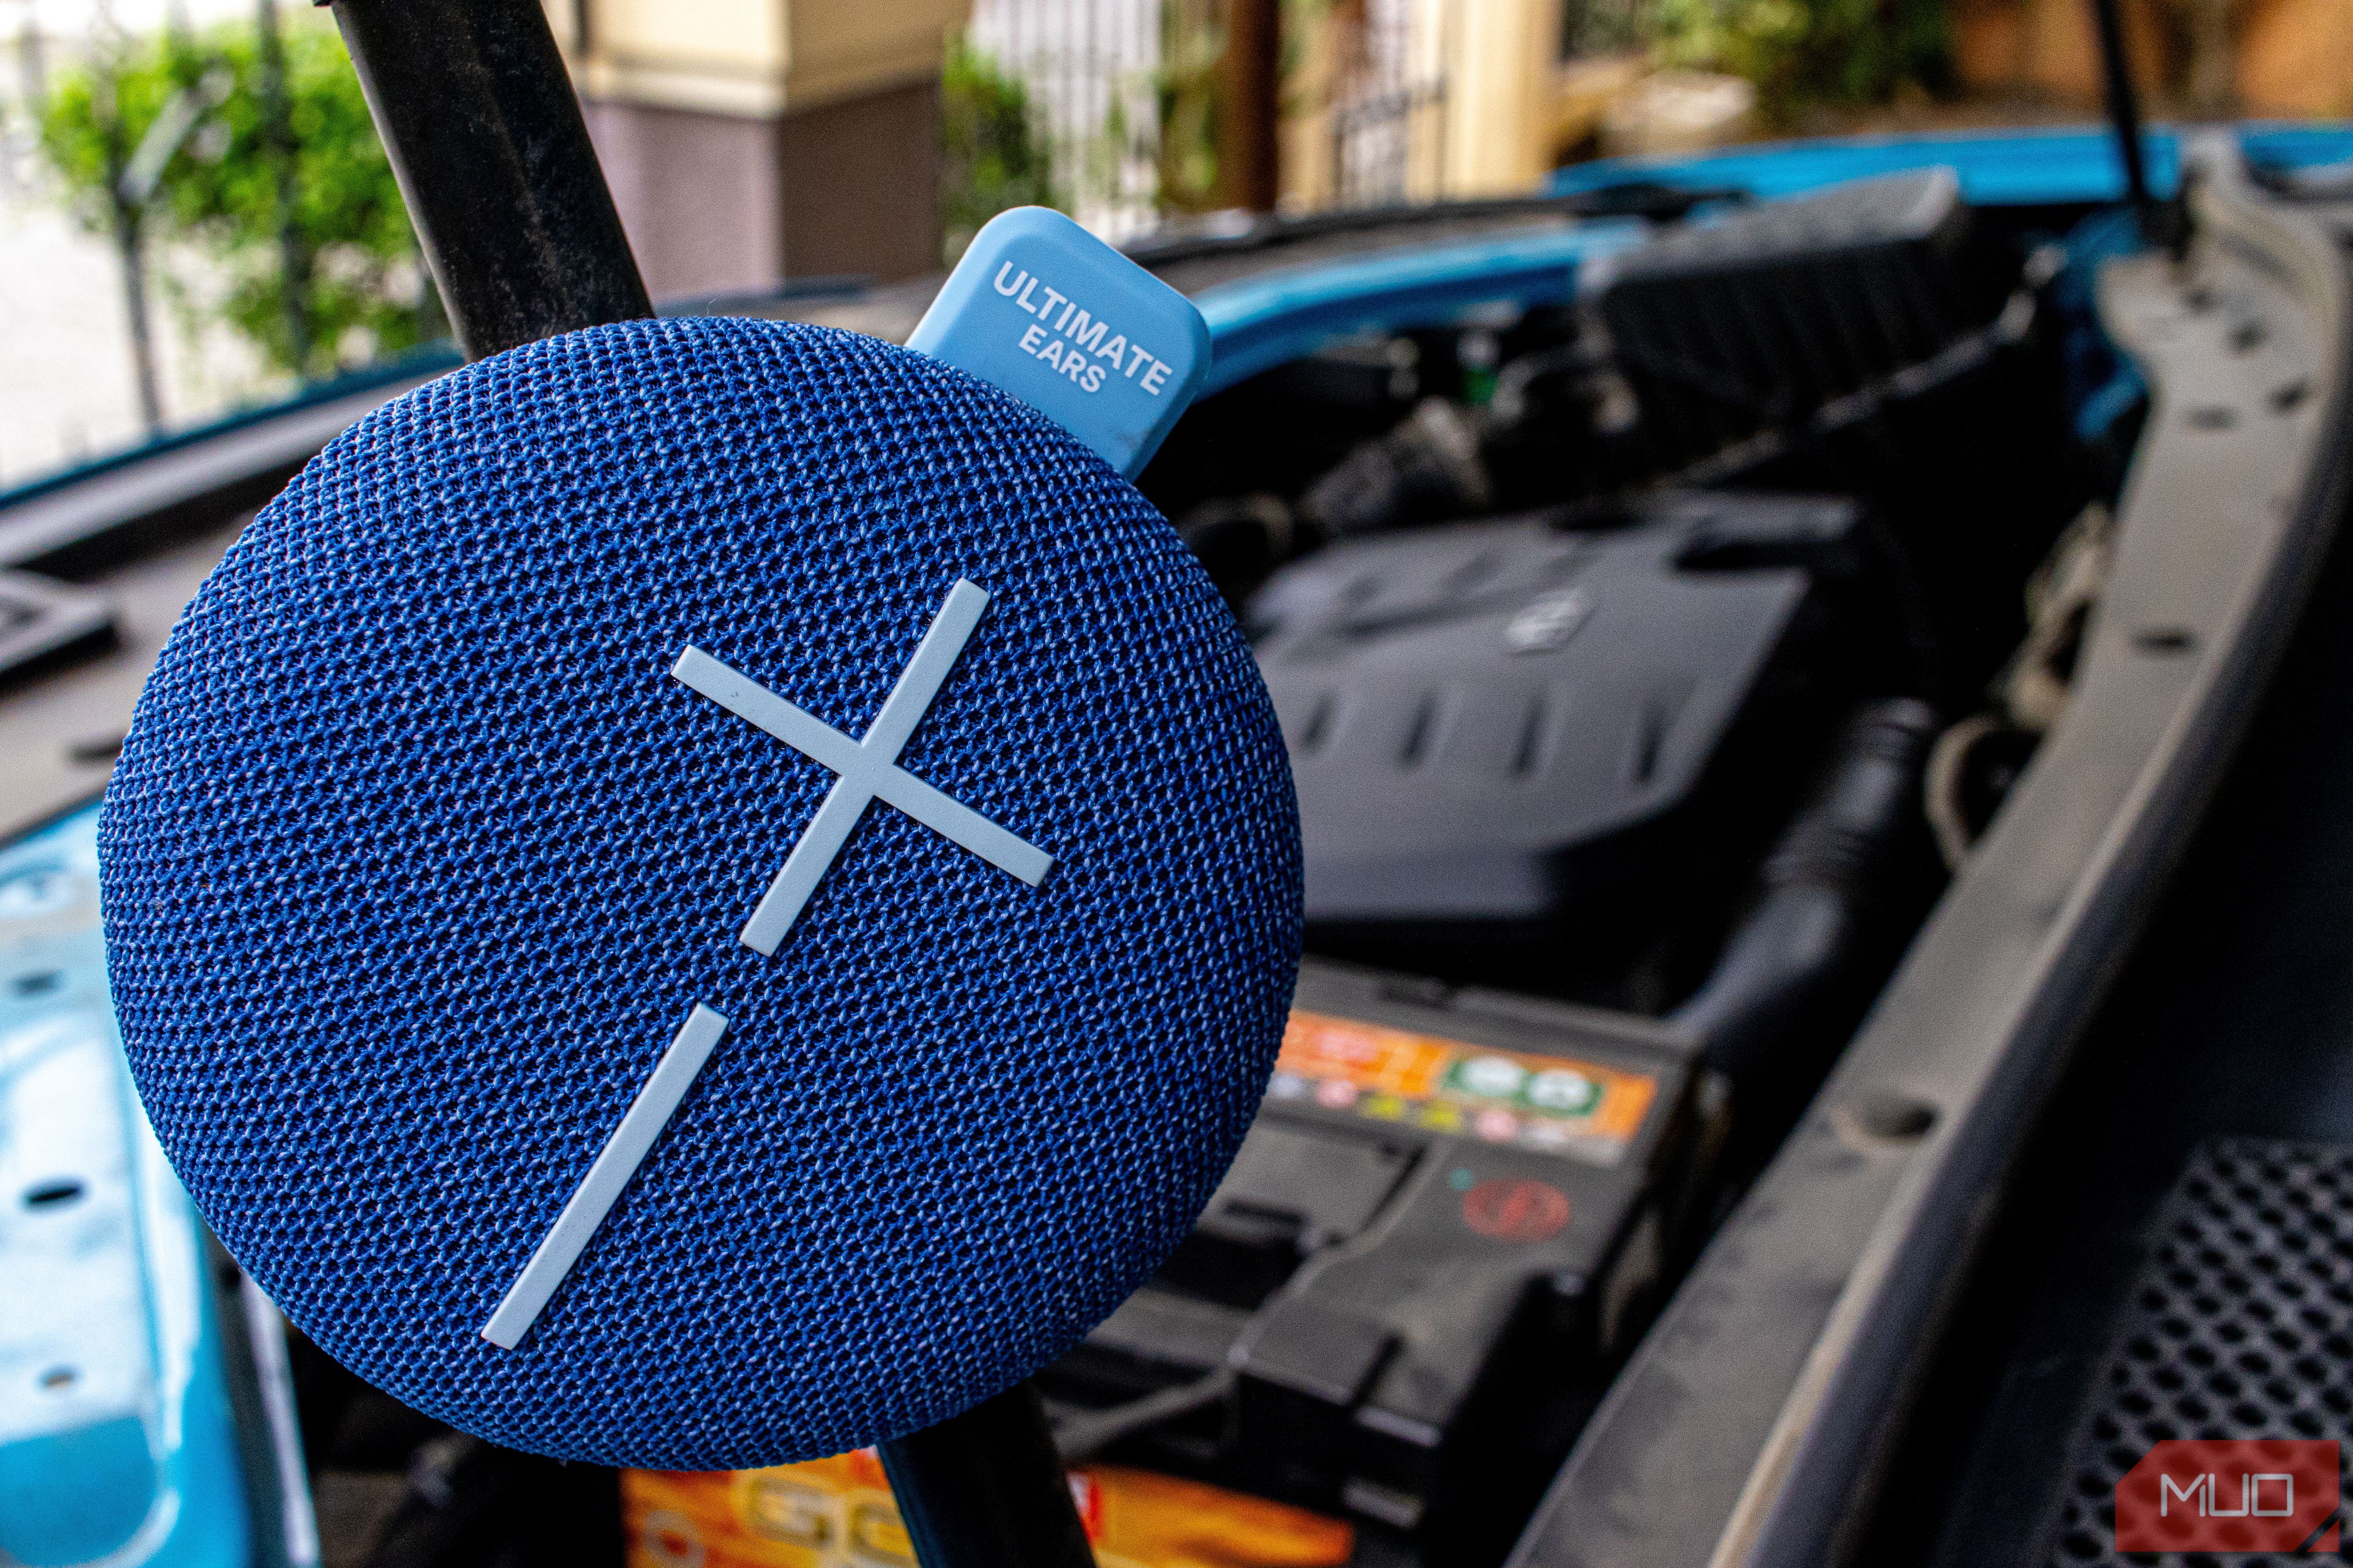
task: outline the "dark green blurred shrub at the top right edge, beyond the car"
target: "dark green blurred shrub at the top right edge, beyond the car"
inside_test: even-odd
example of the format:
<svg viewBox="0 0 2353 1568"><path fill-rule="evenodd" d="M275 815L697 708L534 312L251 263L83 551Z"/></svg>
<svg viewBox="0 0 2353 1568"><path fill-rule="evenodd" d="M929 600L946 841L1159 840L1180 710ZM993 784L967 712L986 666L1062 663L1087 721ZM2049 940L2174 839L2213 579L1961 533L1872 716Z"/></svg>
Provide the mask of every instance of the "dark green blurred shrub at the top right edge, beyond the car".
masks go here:
<svg viewBox="0 0 2353 1568"><path fill-rule="evenodd" d="M1657 35L1661 63L1755 82L1767 120L1951 80L1944 0L1659 0Z"/></svg>

